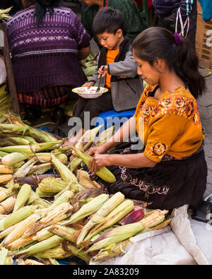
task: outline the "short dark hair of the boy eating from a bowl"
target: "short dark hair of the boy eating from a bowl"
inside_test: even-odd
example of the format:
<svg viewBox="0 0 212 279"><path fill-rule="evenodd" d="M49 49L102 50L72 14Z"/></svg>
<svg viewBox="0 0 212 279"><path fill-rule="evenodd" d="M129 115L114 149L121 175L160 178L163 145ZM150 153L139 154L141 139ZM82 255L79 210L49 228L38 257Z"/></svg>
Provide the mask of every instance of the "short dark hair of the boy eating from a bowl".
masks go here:
<svg viewBox="0 0 212 279"><path fill-rule="evenodd" d="M95 35L104 32L115 34L119 29L124 29L122 12L114 8L101 8L93 20L93 33Z"/></svg>

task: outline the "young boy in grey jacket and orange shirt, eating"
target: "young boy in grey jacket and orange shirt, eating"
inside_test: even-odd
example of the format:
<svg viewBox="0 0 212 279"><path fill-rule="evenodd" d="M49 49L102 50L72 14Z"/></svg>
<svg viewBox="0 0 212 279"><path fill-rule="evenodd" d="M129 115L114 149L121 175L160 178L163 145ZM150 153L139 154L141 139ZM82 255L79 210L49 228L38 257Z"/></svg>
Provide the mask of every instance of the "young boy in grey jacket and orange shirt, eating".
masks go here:
<svg viewBox="0 0 212 279"><path fill-rule="evenodd" d="M73 107L73 117L79 117L82 125L85 124L84 112L90 112L91 121L98 117L100 112L110 109L117 112L134 109L139 102L143 92L143 81L137 75L130 42L123 37L123 26L122 12L112 8L102 8L93 20L93 32L97 35L102 49L98 55L97 71L91 80L82 86L98 86L98 78L102 75L100 86L109 88L109 91L95 99L78 98ZM105 66L104 71L102 66ZM80 134L85 131L84 126L81 128ZM93 126L90 127L92 128ZM75 139L77 141L77 136Z"/></svg>

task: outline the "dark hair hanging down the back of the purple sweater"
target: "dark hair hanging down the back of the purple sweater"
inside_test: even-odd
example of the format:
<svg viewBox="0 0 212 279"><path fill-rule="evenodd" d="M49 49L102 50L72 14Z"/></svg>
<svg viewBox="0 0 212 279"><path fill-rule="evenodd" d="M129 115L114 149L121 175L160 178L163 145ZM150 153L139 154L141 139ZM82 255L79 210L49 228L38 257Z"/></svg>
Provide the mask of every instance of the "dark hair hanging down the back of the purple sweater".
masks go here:
<svg viewBox="0 0 212 279"><path fill-rule="evenodd" d="M59 7L61 5L61 0L29 0L29 5L35 4L35 16L37 18L37 23L42 23L43 18L47 11L50 15L54 13L54 7Z"/></svg>

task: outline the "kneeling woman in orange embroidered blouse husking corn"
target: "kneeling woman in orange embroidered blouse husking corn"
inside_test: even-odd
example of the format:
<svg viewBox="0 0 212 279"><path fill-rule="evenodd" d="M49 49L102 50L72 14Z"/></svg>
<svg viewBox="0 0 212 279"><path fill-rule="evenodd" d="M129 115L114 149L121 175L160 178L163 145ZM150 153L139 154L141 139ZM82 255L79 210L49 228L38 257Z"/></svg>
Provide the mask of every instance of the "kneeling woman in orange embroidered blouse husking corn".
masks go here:
<svg viewBox="0 0 212 279"><path fill-rule="evenodd" d="M152 208L197 208L206 189L207 166L196 104L206 88L196 53L177 33L148 28L134 40L133 54L139 75L148 83L136 113L110 141L89 152L94 154L90 170L107 166L117 182L93 179L112 194L122 191L126 198L150 201ZM129 127L144 138L143 150L118 146L129 136Z"/></svg>

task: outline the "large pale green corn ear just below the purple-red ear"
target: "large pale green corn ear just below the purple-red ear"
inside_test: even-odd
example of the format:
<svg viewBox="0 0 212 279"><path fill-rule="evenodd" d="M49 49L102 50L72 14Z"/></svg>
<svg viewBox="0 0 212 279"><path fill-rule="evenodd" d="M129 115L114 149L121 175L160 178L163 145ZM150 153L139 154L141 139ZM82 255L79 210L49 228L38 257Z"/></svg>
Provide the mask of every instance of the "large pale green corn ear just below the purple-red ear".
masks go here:
<svg viewBox="0 0 212 279"><path fill-rule="evenodd" d="M92 242L93 246L90 247L87 253L106 248L110 244L122 242L125 239L133 237L137 232L143 230L141 222L134 222L129 225L114 227L114 229L106 230L105 232Z"/></svg>

